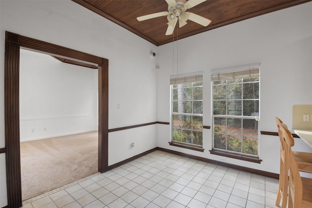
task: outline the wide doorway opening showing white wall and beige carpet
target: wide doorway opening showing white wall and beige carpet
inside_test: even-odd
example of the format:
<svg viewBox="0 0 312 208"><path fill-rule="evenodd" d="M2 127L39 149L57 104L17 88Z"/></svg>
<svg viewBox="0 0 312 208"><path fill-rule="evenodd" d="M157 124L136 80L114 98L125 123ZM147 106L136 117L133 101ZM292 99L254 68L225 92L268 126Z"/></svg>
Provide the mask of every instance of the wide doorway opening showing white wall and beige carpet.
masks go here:
<svg viewBox="0 0 312 208"><path fill-rule="evenodd" d="M98 67L62 60L20 49L22 201L98 170Z"/></svg>

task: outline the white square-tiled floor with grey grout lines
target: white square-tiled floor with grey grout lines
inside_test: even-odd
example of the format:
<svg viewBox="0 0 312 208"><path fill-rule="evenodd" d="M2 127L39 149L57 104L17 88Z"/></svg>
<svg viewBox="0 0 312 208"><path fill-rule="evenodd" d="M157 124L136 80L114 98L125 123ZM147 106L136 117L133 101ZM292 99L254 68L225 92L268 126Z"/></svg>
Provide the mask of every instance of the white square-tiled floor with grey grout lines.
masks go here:
<svg viewBox="0 0 312 208"><path fill-rule="evenodd" d="M275 208L278 180L154 151L23 208Z"/></svg>

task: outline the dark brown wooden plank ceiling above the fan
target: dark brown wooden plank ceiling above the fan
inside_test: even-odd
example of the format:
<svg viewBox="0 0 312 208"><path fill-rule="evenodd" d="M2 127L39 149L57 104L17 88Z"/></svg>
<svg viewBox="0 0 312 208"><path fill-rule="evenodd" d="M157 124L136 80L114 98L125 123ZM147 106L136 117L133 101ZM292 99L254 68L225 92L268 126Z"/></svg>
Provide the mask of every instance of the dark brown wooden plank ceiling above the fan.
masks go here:
<svg viewBox="0 0 312 208"><path fill-rule="evenodd" d="M195 13L212 22L204 27L191 20L181 28L177 25L173 35L166 36L167 17L137 21L137 17L168 11L165 0L72 0L85 8L126 28L156 46L187 38L208 30L222 27L244 19L285 9L311 0L206 0L188 12ZM176 0L178 1L178 0Z"/></svg>

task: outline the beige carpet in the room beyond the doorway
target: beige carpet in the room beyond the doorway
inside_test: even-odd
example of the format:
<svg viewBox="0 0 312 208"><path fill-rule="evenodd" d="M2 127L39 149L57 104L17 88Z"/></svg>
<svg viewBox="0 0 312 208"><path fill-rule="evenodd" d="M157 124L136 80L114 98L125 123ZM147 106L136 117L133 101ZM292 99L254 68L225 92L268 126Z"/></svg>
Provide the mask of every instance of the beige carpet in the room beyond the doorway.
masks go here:
<svg viewBox="0 0 312 208"><path fill-rule="evenodd" d="M22 200L98 171L98 132L20 143Z"/></svg>

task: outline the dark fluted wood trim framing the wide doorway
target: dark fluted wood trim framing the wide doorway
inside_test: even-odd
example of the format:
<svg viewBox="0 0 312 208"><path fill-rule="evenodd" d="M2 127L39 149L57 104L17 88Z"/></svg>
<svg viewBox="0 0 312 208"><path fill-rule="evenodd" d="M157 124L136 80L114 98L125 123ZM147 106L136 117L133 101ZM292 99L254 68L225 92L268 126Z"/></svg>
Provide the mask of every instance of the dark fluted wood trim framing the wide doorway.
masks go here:
<svg viewBox="0 0 312 208"><path fill-rule="evenodd" d="M108 170L108 59L5 32L4 129L8 208L22 206L20 176L20 48L98 65L98 171Z"/></svg>

